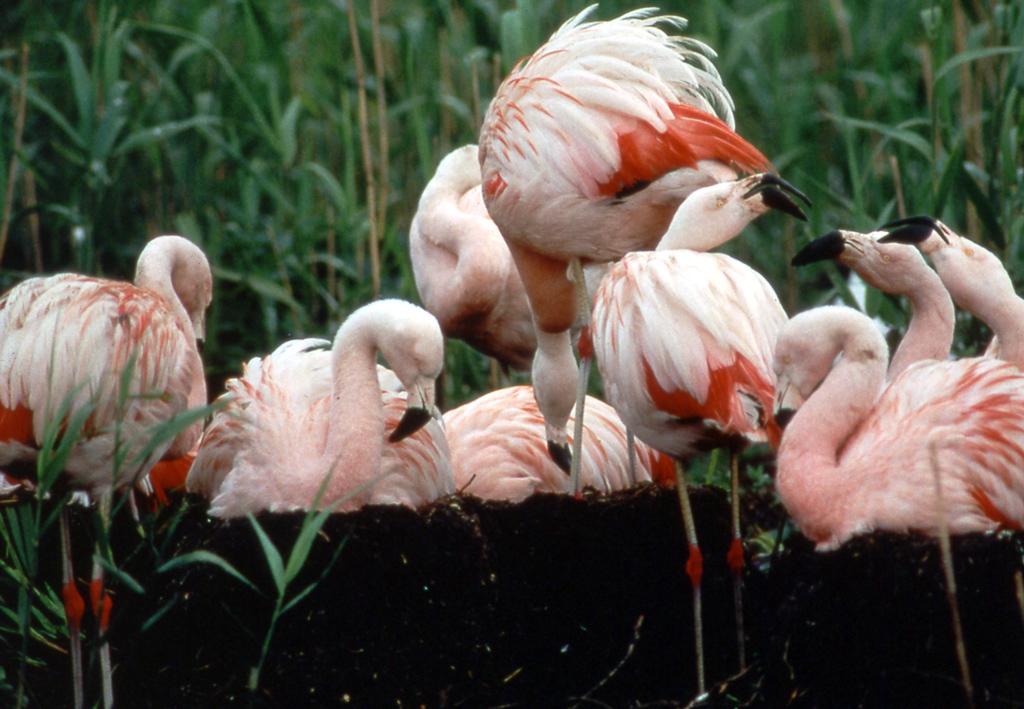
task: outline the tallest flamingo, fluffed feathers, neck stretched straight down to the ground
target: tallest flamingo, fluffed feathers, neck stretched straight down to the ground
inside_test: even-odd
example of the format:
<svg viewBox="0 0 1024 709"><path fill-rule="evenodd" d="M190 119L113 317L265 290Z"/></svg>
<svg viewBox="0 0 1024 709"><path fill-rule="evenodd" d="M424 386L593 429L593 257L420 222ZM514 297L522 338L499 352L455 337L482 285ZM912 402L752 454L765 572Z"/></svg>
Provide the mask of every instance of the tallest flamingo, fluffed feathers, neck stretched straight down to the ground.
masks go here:
<svg viewBox="0 0 1024 709"><path fill-rule="evenodd" d="M535 393L562 467L569 412L586 391L569 336L578 310L589 311L578 266L652 248L695 189L770 168L733 130L711 48L656 27L685 19L644 9L586 22L592 10L512 70L479 136L483 202L529 299Z"/></svg>

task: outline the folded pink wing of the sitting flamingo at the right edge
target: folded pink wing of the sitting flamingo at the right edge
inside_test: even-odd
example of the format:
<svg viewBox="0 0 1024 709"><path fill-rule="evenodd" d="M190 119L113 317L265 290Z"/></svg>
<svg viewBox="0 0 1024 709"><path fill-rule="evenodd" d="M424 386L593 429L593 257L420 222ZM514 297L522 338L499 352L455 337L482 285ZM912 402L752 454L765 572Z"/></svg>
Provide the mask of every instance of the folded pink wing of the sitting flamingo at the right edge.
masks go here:
<svg viewBox="0 0 1024 709"><path fill-rule="evenodd" d="M1020 372L987 358L911 366L882 392L840 456L843 467L850 470L890 471L864 482L864 495L886 486L885 494L872 496L871 529L937 530L937 507L933 505L929 514L921 512L921 500L935 496L936 464L951 532L1020 529L1024 525ZM856 505L859 499L853 494L849 504Z"/></svg>

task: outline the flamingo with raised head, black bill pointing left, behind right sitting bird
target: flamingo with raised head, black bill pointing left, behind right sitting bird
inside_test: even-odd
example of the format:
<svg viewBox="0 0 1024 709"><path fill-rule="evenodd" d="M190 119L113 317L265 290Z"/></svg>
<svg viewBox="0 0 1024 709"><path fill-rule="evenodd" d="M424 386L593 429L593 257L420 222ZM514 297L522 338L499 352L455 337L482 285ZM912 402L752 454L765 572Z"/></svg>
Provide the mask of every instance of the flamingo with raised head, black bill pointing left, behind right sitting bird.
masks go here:
<svg viewBox="0 0 1024 709"><path fill-rule="evenodd" d="M956 319L949 292L921 253L905 244L880 242L885 235L829 232L794 256L793 265L835 259L850 266L869 286L909 299L910 323L886 375L892 381L915 362L947 359Z"/></svg>

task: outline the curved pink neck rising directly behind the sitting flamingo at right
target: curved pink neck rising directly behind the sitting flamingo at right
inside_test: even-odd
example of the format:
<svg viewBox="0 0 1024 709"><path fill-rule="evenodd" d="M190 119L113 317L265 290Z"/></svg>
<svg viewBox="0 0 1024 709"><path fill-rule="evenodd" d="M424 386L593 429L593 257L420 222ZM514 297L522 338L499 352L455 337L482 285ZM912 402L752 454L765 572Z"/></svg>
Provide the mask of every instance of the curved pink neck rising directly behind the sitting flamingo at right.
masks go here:
<svg viewBox="0 0 1024 709"><path fill-rule="evenodd" d="M889 381L915 362L947 359L953 342L956 315L942 281L935 272L928 269L916 283L918 287L906 293L913 315L889 364Z"/></svg>

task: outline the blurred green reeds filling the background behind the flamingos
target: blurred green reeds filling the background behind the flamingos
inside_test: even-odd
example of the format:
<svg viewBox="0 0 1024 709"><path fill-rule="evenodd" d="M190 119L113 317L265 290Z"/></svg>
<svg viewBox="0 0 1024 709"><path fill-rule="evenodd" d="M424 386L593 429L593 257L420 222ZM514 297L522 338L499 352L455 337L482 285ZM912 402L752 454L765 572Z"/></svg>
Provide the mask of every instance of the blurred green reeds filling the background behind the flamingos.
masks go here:
<svg viewBox="0 0 1024 709"><path fill-rule="evenodd" d="M417 300L407 234L424 184L476 141L508 68L587 4L362 0L356 47L344 0L7 0L0 287L37 270L131 278L145 239L182 234L215 267L214 382L288 337L330 335L375 296L372 216L380 294ZM904 213L946 220L1024 274L1019 1L663 9L718 50L737 130L814 201L808 224L770 215L726 249L791 312L849 297L836 268L788 266L806 240ZM865 306L905 323L898 300ZM966 327L958 346L977 336ZM453 343L447 404L480 393L486 372Z"/></svg>

